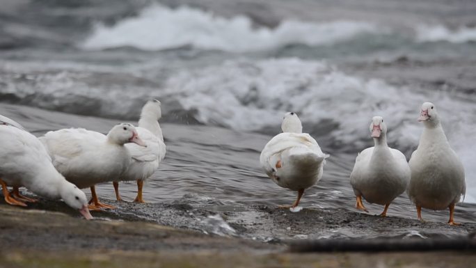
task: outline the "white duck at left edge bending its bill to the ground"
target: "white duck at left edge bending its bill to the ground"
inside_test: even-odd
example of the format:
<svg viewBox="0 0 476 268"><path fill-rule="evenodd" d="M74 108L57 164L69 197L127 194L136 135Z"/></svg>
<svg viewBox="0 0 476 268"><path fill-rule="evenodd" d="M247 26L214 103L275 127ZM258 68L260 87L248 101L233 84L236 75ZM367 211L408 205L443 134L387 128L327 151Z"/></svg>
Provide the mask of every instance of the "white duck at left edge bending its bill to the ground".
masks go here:
<svg viewBox="0 0 476 268"><path fill-rule="evenodd" d="M10 196L7 185L17 189L26 187L45 198L62 198L86 219L93 218L84 192L56 171L42 143L21 125L4 116L0 116L0 147L0 184L7 203L26 206L22 202L25 197L17 196L19 200L16 200Z"/></svg>

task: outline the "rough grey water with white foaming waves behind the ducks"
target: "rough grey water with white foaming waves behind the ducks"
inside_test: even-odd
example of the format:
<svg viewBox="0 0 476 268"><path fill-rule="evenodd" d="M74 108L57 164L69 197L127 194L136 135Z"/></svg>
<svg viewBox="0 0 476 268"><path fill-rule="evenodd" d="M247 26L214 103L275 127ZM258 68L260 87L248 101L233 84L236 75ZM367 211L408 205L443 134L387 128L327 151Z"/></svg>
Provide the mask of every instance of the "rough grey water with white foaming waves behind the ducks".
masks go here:
<svg viewBox="0 0 476 268"><path fill-rule="evenodd" d="M372 116L386 119L390 145L409 157L423 128L420 105L430 101L466 168L469 204L459 213L473 217L474 1L0 3L1 111L33 133L107 132L137 120L146 100L161 100L168 152L145 187L148 201L195 194L235 207L291 203L295 193L268 180L258 159L283 113L294 111L331 155L303 206L351 210L349 174L372 145ZM99 189L113 199L111 185ZM135 190L122 186L129 199ZM415 217L406 196L389 213Z"/></svg>

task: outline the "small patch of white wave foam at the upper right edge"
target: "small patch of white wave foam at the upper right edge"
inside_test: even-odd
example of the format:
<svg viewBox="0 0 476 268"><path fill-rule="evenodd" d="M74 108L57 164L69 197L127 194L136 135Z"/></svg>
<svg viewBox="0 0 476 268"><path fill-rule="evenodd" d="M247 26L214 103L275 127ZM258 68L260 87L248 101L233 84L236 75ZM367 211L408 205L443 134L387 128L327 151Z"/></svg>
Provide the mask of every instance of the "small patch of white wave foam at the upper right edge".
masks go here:
<svg viewBox="0 0 476 268"><path fill-rule="evenodd" d="M416 29L417 40L420 42L446 41L452 43L463 43L476 41L476 28L462 26L454 31L443 25L418 26Z"/></svg>

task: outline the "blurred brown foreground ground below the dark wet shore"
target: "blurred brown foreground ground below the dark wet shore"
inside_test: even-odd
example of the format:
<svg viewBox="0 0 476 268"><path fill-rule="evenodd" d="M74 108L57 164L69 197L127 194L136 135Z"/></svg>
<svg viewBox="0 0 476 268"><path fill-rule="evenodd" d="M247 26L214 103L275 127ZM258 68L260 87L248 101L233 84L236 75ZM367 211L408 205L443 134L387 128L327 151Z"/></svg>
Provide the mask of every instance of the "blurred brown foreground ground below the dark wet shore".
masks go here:
<svg viewBox="0 0 476 268"><path fill-rule="evenodd" d="M297 214L299 215L299 214ZM0 267L475 267L472 251L290 253L285 242L0 205Z"/></svg>

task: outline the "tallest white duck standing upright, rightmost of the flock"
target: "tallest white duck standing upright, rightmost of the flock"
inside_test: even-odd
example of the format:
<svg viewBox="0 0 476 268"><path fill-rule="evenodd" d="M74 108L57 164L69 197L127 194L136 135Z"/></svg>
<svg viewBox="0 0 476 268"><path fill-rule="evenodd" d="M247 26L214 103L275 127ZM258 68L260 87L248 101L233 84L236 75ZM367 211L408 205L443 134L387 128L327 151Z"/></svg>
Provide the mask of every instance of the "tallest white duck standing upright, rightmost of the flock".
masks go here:
<svg viewBox="0 0 476 268"><path fill-rule="evenodd" d="M453 219L454 205L466 193L463 164L446 139L434 104L425 102L422 105L418 121L425 124L425 129L409 162L408 197L415 203L420 221L422 207L449 208L448 223L457 225Z"/></svg>

